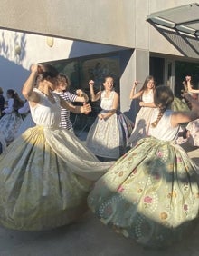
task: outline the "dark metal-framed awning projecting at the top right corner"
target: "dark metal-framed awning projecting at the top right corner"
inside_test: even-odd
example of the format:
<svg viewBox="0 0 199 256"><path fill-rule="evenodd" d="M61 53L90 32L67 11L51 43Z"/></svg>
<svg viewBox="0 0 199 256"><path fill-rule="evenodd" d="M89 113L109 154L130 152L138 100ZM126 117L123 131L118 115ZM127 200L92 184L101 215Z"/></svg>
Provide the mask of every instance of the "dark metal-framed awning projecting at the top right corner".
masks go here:
<svg viewBox="0 0 199 256"><path fill-rule="evenodd" d="M167 9L147 16L147 22L188 34L199 39L199 4L193 3Z"/></svg>

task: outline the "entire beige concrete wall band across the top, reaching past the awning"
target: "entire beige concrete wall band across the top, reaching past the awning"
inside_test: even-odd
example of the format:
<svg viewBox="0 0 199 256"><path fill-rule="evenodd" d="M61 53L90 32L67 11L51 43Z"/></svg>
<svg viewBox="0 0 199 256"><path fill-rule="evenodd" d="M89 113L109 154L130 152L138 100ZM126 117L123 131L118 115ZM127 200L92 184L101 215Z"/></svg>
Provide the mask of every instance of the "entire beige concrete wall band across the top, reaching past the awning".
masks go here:
<svg viewBox="0 0 199 256"><path fill-rule="evenodd" d="M147 15L193 0L1 0L0 27L181 55Z"/></svg>

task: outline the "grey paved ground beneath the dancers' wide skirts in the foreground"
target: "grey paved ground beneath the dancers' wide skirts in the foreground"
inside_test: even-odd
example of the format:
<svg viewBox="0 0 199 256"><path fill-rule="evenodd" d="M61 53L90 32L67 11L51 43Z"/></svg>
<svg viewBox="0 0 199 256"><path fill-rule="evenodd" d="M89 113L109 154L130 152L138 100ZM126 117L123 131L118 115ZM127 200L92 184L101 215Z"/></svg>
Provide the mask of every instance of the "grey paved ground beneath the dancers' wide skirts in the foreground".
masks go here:
<svg viewBox="0 0 199 256"><path fill-rule="evenodd" d="M185 145L199 164L199 148ZM185 241L167 250L144 249L109 230L91 212L69 226L41 232L0 228L0 256L198 256L199 226Z"/></svg>

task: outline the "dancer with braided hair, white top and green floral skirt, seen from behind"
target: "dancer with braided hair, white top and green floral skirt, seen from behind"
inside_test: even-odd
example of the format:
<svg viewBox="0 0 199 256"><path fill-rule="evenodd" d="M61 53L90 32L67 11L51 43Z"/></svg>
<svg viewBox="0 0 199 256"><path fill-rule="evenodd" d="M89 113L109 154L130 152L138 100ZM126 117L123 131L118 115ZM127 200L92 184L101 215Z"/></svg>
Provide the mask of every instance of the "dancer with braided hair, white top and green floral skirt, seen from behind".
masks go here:
<svg viewBox="0 0 199 256"><path fill-rule="evenodd" d="M199 222L198 167L175 144L179 124L199 117L199 103L190 95L186 98L192 111L173 112L170 87L156 87L150 135L119 158L88 197L101 222L147 247L186 239Z"/></svg>

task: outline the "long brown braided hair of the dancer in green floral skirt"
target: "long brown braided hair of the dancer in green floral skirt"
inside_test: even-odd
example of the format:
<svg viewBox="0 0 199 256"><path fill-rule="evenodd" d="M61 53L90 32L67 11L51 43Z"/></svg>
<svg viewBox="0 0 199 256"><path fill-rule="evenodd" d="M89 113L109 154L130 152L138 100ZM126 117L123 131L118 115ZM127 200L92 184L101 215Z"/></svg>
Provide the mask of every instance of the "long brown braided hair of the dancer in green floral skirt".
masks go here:
<svg viewBox="0 0 199 256"><path fill-rule="evenodd" d="M159 85L156 87L154 93L154 103L156 107L159 108L159 113L157 115L156 121L151 123L152 127L156 127L165 113L166 109L171 107L171 103L174 101L174 94L169 86Z"/></svg>

